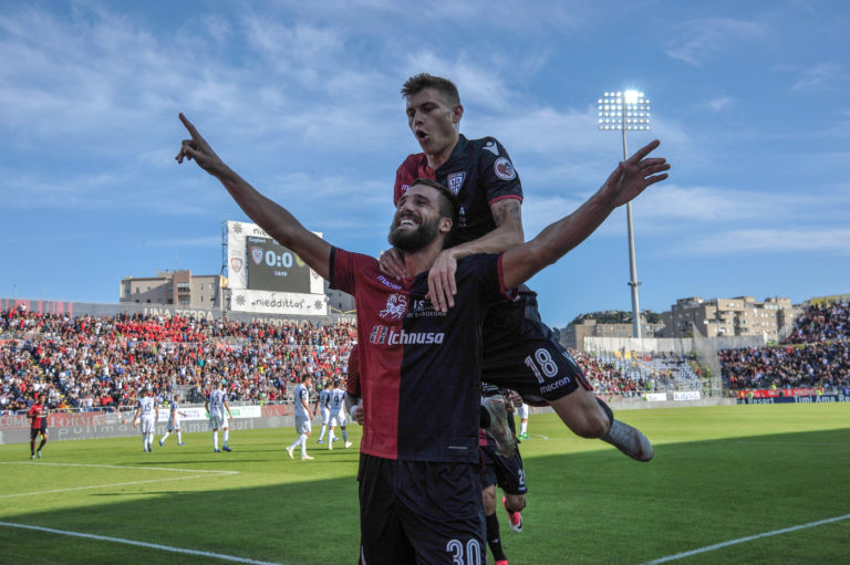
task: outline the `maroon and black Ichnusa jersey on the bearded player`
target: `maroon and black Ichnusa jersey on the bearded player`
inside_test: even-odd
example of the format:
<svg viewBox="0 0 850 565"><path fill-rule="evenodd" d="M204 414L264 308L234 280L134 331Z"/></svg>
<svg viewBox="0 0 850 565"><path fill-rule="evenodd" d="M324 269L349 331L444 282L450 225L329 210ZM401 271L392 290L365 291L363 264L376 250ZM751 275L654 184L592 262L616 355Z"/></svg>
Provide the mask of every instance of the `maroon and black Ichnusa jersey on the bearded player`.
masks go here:
<svg viewBox="0 0 850 565"><path fill-rule="evenodd" d="M393 279L374 258L334 248L331 287L357 303L361 451L408 461L478 461L481 322L505 299L501 255L457 263L457 295L435 311L427 272Z"/></svg>

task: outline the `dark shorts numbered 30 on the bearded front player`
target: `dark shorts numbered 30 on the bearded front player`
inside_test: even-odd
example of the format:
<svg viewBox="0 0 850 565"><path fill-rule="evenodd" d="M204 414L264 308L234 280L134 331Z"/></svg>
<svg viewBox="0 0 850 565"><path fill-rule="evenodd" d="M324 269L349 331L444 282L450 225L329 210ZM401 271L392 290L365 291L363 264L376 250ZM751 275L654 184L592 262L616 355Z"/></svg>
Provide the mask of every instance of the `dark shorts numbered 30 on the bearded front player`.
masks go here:
<svg viewBox="0 0 850 565"><path fill-rule="evenodd" d="M361 453L360 563L485 563L479 475L475 463Z"/></svg>

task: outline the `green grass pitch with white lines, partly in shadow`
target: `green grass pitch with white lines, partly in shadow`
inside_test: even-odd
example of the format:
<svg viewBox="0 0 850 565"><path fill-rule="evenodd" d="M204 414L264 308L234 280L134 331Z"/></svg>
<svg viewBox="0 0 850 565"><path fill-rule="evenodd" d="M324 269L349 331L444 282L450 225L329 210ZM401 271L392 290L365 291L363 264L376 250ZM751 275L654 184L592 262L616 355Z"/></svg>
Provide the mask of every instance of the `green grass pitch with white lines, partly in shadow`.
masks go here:
<svg viewBox="0 0 850 565"><path fill-rule="evenodd" d="M577 438L556 416L531 415L521 444L524 532L499 513L511 565L850 558L850 405L618 416L653 440L652 462ZM360 428L350 430L356 447ZM353 565L357 451L341 442L328 451L315 438L313 461L287 456L292 428L232 432L231 453L214 453L209 433L184 436L185 447L173 436L153 453L142 452L139 437L55 441L35 461L29 446L0 446L0 563L232 563L210 555L220 554ZM695 553L664 561L685 552Z"/></svg>

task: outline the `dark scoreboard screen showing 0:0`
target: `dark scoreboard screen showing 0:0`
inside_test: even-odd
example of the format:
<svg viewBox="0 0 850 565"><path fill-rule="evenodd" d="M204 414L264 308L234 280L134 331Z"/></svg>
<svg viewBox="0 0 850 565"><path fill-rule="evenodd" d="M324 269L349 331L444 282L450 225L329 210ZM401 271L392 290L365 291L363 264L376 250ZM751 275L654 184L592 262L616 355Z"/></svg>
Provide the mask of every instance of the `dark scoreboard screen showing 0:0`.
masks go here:
<svg viewBox="0 0 850 565"><path fill-rule="evenodd" d="M271 238L248 236L245 242L248 289L310 293L310 268Z"/></svg>

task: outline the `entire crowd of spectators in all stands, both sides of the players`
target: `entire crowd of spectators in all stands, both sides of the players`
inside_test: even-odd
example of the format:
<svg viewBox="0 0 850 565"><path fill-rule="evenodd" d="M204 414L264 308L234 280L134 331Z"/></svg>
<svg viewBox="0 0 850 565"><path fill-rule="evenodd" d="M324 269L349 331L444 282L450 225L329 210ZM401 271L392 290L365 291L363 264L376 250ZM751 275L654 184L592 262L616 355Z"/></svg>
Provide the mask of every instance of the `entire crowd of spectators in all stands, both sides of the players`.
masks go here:
<svg viewBox="0 0 850 565"><path fill-rule="evenodd" d="M133 407L147 385L159 400L175 386L203 401L225 380L230 401L286 400L287 385L309 373L315 386L344 380L352 322L276 324L185 316L70 316L12 308L0 312L0 411L24 410L39 391L51 409ZM598 394L638 397L675 375L634 378L587 353L571 354ZM722 349L732 390L850 386L850 305L811 305L787 343Z"/></svg>

